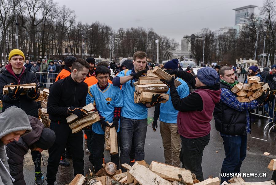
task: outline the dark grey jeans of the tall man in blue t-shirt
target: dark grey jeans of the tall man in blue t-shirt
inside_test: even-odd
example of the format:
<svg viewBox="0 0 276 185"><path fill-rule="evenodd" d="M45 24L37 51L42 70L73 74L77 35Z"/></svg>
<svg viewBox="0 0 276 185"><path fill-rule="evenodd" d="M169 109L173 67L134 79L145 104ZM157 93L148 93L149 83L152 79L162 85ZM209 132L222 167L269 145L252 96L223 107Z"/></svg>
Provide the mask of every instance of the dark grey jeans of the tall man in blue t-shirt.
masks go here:
<svg viewBox="0 0 276 185"><path fill-rule="evenodd" d="M135 160L144 160L144 146L146 141L147 127L148 119L129 119L121 116L121 164L129 164L129 153L131 150L132 136L134 136ZM126 171L126 169L122 168L122 171Z"/></svg>

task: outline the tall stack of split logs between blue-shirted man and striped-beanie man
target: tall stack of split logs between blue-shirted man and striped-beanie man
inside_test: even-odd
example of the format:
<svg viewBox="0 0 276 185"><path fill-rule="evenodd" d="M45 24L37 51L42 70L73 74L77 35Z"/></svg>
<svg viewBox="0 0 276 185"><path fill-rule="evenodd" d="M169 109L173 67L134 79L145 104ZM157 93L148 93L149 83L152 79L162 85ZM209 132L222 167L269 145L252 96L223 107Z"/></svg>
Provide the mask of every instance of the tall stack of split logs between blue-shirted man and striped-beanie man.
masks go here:
<svg viewBox="0 0 276 185"><path fill-rule="evenodd" d="M148 70L147 76L139 77L137 82L134 82L134 103L146 103L151 102L152 95L159 93L166 100L160 103L166 103L169 100L169 95L165 94L169 88L163 84L160 79L171 80L171 75L166 73L164 70L156 66L153 70ZM181 82L174 80L175 86L181 85Z"/></svg>

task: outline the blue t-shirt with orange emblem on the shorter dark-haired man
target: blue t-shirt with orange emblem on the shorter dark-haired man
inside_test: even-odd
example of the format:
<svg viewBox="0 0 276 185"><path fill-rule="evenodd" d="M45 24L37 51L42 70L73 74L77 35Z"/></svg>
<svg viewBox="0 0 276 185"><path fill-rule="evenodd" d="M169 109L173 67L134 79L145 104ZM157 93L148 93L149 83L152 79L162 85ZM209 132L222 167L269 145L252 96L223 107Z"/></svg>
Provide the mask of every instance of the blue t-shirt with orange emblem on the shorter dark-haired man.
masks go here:
<svg viewBox="0 0 276 185"><path fill-rule="evenodd" d="M123 107L123 97L122 92L119 87L115 87L112 84L108 84L108 86L102 91L98 84L92 85L86 96L86 104L94 103L96 104L96 108L100 115L105 117L105 121L112 123L114 116L114 108L115 107ZM97 134L105 134L102 130L102 126L100 122L96 122L92 125L92 130ZM117 132L120 131L120 120L119 127Z"/></svg>

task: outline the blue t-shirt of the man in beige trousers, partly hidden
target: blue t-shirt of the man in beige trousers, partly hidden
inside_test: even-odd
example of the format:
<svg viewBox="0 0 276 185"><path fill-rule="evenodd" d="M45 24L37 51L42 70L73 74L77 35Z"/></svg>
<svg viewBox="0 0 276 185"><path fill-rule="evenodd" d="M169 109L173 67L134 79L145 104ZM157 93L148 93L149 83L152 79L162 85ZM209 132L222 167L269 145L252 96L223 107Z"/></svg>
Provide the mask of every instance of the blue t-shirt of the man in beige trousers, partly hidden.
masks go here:
<svg viewBox="0 0 276 185"><path fill-rule="evenodd" d="M190 93L189 87L187 83L181 78L176 79L181 82L181 85L176 88L178 95L180 96L180 98L185 98ZM160 104L159 120L165 123L176 123L178 111L174 109L174 106L171 102L170 89L168 90L167 94L169 94L169 100L166 103Z"/></svg>

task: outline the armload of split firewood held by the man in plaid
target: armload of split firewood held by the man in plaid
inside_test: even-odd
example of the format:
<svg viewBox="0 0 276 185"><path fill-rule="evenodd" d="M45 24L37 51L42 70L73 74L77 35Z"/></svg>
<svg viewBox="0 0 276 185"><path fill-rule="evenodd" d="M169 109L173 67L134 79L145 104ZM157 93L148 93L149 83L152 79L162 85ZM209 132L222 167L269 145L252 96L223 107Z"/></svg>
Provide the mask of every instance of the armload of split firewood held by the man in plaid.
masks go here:
<svg viewBox="0 0 276 185"><path fill-rule="evenodd" d="M247 84L238 83L236 84L231 91L235 93L237 99L240 102L251 102L252 100L256 100L259 98L263 92L269 90L269 85L264 82L260 82L260 77L248 77Z"/></svg>

